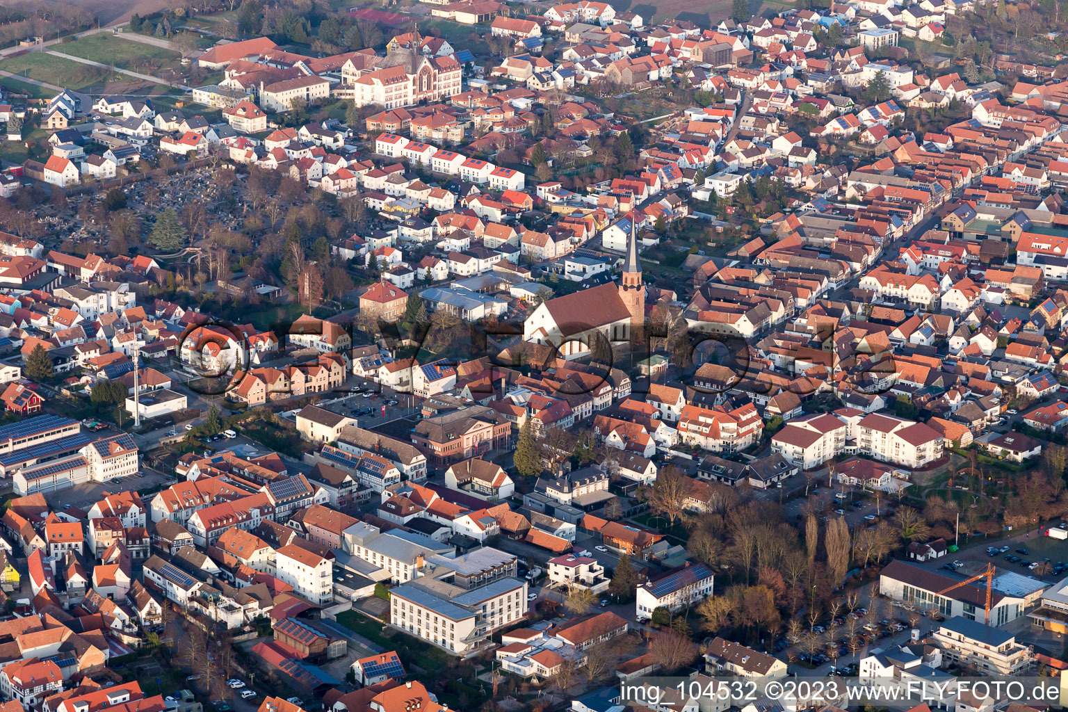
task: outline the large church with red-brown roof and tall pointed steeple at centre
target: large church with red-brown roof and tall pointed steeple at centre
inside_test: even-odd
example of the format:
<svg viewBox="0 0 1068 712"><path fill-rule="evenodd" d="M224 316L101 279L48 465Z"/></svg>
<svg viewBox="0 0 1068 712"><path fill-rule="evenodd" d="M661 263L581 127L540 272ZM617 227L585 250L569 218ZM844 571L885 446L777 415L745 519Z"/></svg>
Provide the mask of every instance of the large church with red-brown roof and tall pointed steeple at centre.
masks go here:
<svg viewBox="0 0 1068 712"><path fill-rule="evenodd" d="M561 355L574 359L587 354L601 337L612 344L629 341L632 330L644 322L645 285L638 235L631 224L619 284L602 284L544 301L523 322L523 341L556 346Z"/></svg>

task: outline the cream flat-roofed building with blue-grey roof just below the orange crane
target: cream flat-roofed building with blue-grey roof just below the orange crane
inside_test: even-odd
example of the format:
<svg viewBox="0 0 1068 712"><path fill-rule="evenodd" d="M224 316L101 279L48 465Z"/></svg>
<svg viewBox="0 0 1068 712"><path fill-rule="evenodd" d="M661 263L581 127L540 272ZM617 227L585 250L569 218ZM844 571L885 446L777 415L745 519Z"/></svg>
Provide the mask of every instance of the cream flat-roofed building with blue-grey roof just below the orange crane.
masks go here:
<svg viewBox="0 0 1068 712"><path fill-rule="evenodd" d="M963 616L940 623L931 639L951 662L980 675L1017 675L1035 656L1030 647L1016 642L1014 633Z"/></svg>

